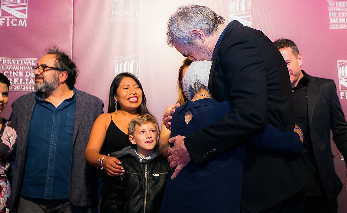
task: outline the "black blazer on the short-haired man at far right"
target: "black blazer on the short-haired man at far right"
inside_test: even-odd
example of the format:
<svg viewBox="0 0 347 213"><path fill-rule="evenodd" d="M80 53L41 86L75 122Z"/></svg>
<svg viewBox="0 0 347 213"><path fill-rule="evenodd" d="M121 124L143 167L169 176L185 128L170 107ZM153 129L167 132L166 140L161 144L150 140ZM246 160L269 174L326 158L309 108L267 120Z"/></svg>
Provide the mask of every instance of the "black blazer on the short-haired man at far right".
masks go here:
<svg viewBox="0 0 347 213"><path fill-rule="evenodd" d="M304 72L304 71L303 71ZM317 170L329 198L336 197L342 183L335 173L330 129L337 148L347 164L347 123L333 80L308 76L307 113Z"/></svg>

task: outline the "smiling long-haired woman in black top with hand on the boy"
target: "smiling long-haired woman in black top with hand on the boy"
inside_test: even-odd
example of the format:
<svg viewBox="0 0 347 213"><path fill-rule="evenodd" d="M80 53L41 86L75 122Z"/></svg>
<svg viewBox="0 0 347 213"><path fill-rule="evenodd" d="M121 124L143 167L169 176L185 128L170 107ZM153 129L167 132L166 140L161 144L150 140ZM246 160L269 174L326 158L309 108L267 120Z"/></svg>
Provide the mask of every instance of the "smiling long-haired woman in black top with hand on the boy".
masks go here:
<svg viewBox="0 0 347 213"><path fill-rule="evenodd" d="M149 112L141 83L131 73L118 74L110 86L108 113L94 122L84 153L86 161L110 176L122 175L121 162L108 154L130 145L128 123L144 113Z"/></svg>

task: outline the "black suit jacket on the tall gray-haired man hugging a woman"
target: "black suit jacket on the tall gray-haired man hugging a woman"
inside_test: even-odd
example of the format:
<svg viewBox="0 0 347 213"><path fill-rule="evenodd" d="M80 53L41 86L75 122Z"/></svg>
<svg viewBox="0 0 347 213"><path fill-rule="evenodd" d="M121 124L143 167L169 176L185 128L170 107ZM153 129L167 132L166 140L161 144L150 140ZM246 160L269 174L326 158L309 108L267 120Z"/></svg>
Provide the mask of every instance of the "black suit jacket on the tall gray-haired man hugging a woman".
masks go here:
<svg viewBox="0 0 347 213"><path fill-rule="evenodd" d="M276 46L259 30L236 20L230 25L212 63L209 90L218 101L231 100L233 109L218 123L185 138L196 166L246 143L264 130L266 122L281 131L294 129L288 68ZM211 150L215 154L202 157ZM247 211L264 211L305 185L296 157L246 146L241 204Z"/></svg>

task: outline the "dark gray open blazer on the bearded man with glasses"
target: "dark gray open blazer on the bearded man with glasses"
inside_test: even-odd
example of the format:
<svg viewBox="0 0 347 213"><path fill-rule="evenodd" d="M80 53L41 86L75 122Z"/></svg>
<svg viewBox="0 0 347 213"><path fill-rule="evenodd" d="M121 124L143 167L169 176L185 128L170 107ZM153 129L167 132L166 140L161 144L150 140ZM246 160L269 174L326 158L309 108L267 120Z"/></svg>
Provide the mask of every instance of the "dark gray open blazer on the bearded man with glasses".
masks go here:
<svg viewBox="0 0 347 213"><path fill-rule="evenodd" d="M35 104L35 92L31 92L19 97L11 105L12 113L10 120L18 123L16 161L12 170L12 207L16 207L20 196L26 161L29 126ZM103 113L103 103L99 98L77 90L69 181L69 199L74 206L98 204L98 174L96 168L89 166L84 160L84 151L93 123L101 113Z"/></svg>

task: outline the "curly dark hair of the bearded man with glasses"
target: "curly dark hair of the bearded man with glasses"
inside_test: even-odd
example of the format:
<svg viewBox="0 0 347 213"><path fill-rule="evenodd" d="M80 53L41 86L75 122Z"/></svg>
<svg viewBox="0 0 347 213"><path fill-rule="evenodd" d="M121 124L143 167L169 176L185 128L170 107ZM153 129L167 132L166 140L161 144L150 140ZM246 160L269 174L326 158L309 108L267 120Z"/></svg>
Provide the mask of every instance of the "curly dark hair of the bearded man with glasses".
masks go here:
<svg viewBox="0 0 347 213"><path fill-rule="evenodd" d="M78 69L73 62L73 58L69 57L62 49L53 45L52 47L46 48L46 54L54 54L56 55L56 61L54 62L54 66L56 66L60 71L67 71L68 77L66 79L66 85L69 89L72 89L76 83L76 78L78 75Z"/></svg>

